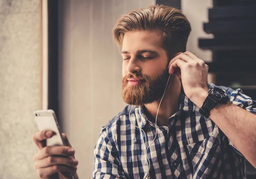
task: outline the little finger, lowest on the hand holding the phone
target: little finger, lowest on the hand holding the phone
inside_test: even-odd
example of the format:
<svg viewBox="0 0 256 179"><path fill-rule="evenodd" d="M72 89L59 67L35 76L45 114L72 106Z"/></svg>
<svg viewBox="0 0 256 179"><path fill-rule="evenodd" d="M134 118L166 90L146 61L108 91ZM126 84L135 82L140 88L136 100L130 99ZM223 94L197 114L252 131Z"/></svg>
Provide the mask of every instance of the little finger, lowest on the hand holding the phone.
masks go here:
<svg viewBox="0 0 256 179"><path fill-rule="evenodd" d="M76 169L77 169L76 167L70 167L68 165L52 165L47 168L39 168L37 172L40 178L47 178L58 172L65 172L65 171L74 172L76 171Z"/></svg>

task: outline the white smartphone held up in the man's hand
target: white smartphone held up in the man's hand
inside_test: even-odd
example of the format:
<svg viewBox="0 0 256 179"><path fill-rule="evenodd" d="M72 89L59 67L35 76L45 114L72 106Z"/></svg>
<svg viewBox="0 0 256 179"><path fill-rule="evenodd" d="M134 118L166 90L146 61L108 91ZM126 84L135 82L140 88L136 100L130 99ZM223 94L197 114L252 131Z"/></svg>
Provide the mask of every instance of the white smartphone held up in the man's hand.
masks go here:
<svg viewBox="0 0 256 179"><path fill-rule="evenodd" d="M38 126L39 131L50 130L54 132L54 135L51 138L46 139L47 146L66 145L61 135L61 130L58 125L55 112L52 109L38 110L35 111L33 114L35 116L35 122Z"/></svg>

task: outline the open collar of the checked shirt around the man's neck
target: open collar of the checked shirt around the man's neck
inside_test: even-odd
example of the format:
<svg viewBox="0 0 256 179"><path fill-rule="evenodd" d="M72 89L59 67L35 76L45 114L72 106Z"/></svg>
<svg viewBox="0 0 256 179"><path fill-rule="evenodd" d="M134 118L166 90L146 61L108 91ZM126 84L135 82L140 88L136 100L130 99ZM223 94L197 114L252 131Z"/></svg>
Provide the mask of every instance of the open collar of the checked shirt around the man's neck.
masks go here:
<svg viewBox="0 0 256 179"><path fill-rule="evenodd" d="M180 94L180 101L179 101L179 111L199 111L199 107L195 105L184 93L183 88L181 88L181 94ZM148 119L143 111L142 106L135 106L134 107L134 114L136 116L137 124L139 128L143 128L145 124L147 123ZM138 114L139 113L139 114ZM178 114L178 113L175 113Z"/></svg>

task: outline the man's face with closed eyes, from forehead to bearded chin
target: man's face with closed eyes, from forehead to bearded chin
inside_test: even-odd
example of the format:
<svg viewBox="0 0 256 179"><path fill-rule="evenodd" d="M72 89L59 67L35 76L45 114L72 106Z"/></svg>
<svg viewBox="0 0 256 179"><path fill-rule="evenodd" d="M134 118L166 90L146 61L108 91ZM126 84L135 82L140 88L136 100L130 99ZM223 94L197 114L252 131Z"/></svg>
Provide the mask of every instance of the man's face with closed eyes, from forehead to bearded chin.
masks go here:
<svg viewBox="0 0 256 179"><path fill-rule="evenodd" d="M126 32L122 44L122 95L130 105L160 99L169 73L160 31Z"/></svg>

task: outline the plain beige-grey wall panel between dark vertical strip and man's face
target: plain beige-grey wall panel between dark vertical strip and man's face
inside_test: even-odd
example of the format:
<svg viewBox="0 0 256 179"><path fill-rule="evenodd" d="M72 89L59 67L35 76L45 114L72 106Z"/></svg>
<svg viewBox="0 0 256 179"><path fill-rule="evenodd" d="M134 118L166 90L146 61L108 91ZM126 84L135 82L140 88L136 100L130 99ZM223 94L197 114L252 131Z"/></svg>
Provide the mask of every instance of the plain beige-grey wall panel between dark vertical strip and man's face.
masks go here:
<svg viewBox="0 0 256 179"><path fill-rule="evenodd" d="M60 7L60 121L89 179L100 128L125 106L122 57L112 41L121 14L155 0L64 0Z"/></svg>

